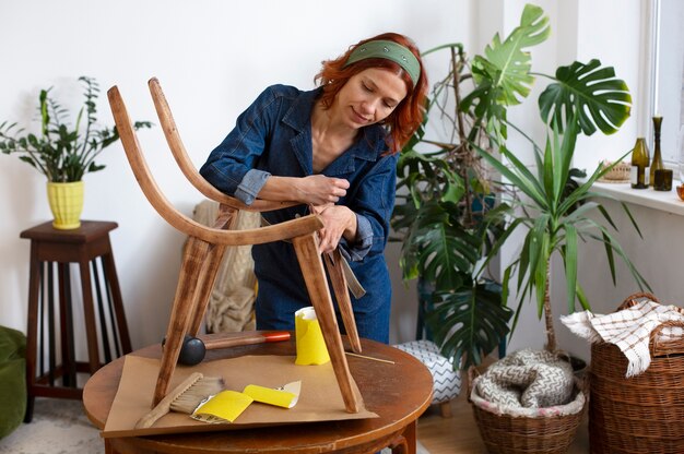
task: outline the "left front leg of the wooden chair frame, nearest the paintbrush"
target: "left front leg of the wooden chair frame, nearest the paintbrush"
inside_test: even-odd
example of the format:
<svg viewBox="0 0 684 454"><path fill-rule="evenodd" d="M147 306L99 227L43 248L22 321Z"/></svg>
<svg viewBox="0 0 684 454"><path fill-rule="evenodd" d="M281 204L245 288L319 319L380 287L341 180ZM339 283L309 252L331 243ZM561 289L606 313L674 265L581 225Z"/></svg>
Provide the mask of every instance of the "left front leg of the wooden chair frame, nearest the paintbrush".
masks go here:
<svg viewBox="0 0 684 454"><path fill-rule="evenodd" d="M154 389L153 406L168 393L170 379L176 370L176 362L180 354L182 340L190 324L190 316L194 312L197 302L198 278L210 252L210 244L191 237L186 244L180 265L180 275L176 287L176 298L166 330L166 343L162 351L162 365Z"/></svg>

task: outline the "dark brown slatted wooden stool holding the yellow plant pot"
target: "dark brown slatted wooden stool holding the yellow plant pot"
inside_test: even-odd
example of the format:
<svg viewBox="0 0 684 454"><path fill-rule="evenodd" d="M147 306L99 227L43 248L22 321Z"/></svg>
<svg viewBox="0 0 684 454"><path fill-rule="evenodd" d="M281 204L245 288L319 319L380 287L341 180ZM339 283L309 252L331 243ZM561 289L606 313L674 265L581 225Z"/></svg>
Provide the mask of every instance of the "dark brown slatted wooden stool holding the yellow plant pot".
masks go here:
<svg viewBox="0 0 684 454"><path fill-rule="evenodd" d="M26 331L28 401L24 417L26 422L31 422L33 418L36 396L82 398L83 390L78 387L76 373L93 374L103 366L99 360L99 345L105 363L131 351L119 279L109 243L109 231L115 228L116 223L83 220L78 229L57 230L48 222L20 235L21 238L31 240ZM71 262L79 264L81 276L87 362L76 361L74 351ZM57 276L54 273L55 263ZM57 288L55 288L56 277ZM102 339L99 345L98 331ZM56 340L57 332L59 342ZM61 386L57 384L57 379L60 378Z"/></svg>

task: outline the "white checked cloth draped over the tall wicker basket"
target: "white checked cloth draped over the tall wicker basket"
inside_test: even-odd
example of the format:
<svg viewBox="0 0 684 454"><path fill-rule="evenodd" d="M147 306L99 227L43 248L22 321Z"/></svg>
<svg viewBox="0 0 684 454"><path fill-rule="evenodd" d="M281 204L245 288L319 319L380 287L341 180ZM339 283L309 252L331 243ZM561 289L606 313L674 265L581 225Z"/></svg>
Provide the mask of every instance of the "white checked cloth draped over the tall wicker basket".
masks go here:
<svg viewBox="0 0 684 454"><path fill-rule="evenodd" d="M561 316L561 321L574 334L590 343L603 340L615 344L629 362L626 377L634 377L646 371L651 363L649 350L651 332L663 322L684 323L684 309L645 300L608 315L583 311ZM660 332L658 340L674 340L682 336L684 336L682 327L668 326Z"/></svg>

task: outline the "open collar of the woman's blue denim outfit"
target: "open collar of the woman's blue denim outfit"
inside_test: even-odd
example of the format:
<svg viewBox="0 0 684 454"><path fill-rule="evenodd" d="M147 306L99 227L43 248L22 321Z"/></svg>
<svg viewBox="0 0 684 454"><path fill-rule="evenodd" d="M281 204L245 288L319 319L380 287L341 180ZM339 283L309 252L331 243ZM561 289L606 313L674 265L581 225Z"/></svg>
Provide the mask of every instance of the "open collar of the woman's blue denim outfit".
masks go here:
<svg viewBox="0 0 684 454"><path fill-rule="evenodd" d="M322 88L318 87L308 92L299 92L299 95L293 100L283 117L283 123L298 131L292 140L293 148L297 154L299 164L308 174L312 172L311 164L311 112L316 99L322 93ZM362 129L361 136L354 144L332 162L323 172L328 176L352 172L356 166L354 159L363 159L375 162L380 157L385 150L385 131L382 127L374 124Z"/></svg>

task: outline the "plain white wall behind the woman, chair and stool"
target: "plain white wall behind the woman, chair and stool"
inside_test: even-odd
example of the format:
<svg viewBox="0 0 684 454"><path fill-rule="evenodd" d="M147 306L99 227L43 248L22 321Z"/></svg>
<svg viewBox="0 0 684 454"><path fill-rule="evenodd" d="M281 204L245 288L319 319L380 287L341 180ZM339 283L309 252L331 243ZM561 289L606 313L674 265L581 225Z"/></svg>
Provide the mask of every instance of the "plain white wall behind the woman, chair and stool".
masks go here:
<svg viewBox="0 0 684 454"><path fill-rule="evenodd" d="M469 45L471 0L1 1L0 121L28 123L40 88L55 85L76 108L79 75L103 88L99 119L111 124L105 91L117 84L134 119L156 120L146 81L157 76L185 144L200 166L235 117L268 84L314 86L320 61L386 31L420 48ZM444 70L439 61L428 71ZM73 101L72 101L73 100ZM186 214L199 194L177 170L158 127L141 134L167 198ZM84 219L115 220L111 232L134 347L158 342L168 320L181 235L143 198L119 144L105 170L85 177ZM30 242L20 231L50 219L45 179L15 157L0 156L0 324L25 331ZM397 246L388 251L394 287L393 339L412 338L415 291L401 284ZM76 323L78 325L78 323Z"/></svg>

